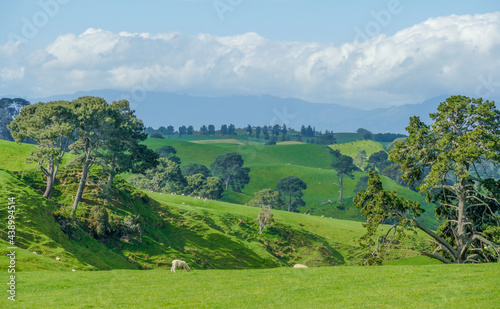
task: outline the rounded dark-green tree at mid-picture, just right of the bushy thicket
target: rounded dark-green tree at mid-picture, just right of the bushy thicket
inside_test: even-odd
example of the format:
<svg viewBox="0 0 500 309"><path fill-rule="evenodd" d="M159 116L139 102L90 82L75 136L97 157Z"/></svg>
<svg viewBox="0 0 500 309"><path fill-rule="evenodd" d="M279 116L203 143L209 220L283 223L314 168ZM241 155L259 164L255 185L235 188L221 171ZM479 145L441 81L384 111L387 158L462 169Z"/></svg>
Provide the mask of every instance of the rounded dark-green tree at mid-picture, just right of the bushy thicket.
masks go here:
<svg viewBox="0 0 500 309"><path fill-rule="evenodd" d="M241 155L228 152L215 158L215 161L210 164L210 169L215 177L222 179L225 190L228 190L231 185L234 191L240 192L250 182L248 175L250 169L243 167L244 163Z"/></svg>

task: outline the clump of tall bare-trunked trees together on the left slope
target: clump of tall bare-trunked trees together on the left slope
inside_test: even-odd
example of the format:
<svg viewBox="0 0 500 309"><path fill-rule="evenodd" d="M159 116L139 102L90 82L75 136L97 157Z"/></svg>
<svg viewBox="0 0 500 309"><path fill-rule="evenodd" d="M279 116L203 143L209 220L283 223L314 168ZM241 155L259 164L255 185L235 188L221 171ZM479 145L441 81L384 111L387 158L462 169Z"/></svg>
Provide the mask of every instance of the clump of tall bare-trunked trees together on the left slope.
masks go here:
<svg viewBox="0 0 500 309"><path fill-rule="evenodd" d="M108 104L97 97L54 101L25 106L8 126L17 142L25 139L38 146L27 162L35 162L46 177L44 197L51 199L58 169L64 155L79 153L82 171L72 214L76 211L92 166L108 174L111 187L115 175L144 172L158 164L158 155L140 144L147 138L144 125L126 100Z"/></svg>

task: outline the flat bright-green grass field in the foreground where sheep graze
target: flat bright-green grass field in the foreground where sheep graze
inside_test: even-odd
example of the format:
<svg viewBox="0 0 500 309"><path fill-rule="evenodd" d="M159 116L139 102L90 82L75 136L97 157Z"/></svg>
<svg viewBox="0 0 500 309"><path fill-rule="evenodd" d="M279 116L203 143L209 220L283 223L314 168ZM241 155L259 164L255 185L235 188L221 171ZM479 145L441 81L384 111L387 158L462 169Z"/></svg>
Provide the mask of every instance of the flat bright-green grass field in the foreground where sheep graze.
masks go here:
<svg viewBox="0 0 500 309"><path fill-rule="evenodd" d="M18 308L498 308L500 264L23 272ZM0 306L6 308L5 295Z"/></svg>

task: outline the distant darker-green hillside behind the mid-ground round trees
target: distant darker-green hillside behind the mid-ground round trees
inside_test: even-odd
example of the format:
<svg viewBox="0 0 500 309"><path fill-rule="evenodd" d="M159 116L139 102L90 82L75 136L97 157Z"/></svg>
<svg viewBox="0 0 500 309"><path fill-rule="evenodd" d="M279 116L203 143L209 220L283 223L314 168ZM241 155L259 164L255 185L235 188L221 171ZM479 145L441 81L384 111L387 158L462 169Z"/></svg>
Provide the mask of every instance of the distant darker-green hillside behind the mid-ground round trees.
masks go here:
<svg viewBox="0 0 500 309"><path fill-rule="evenodd" d="M347 133L346 133L347 134ZM351 134L350 134L351 135ZM359 178L365 174L356 172L354 178L344 178L344 200L337 204L339 188L336 172L330 168L332 155L327 147L313 144L285 144L285 145L237 145L234 143L195 144L191 142L148 139L146 144L152 149L164 145L173 146L182 164L198 162L210 166L215 158L223 153L236 151L245 160L245 166L250 167L250 183L241 193L227 191L223 200L231 203L245 204L254 197L254 192L265 188L275 188L276 183L283 177L297 176L308 186L304 190L306 207L299 210L315 215L327 217L362 220L359 211L352 206L354 189ZM383 150L380 143L373 141L358 141L343 145L330 146L340 149L342 153L357 154L358 149L365 149L368 156L371 153ZM425 202L422 195L398 185L387 177L382 177L384 186L388 190L397 190L401 196L419 201L427 210L422 216L422 222L428 226L436 226L433 207Z"/></svg>

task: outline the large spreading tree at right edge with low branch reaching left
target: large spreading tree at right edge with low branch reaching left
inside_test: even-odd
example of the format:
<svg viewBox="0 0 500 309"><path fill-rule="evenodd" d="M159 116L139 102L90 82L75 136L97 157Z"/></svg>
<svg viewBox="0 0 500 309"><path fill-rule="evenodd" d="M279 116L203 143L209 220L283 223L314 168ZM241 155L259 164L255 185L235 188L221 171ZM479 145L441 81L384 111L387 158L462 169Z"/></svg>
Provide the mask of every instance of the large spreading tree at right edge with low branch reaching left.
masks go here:
<svg viewBox="0 0 500 309"><path fill-rule="evenodd" d="M444 263L499 261L500 184L485 165L500 162L500 111L494 102L452 96L430 116L432 125L410 119L409 137L395 143L390 159L409 184L421 181L418 190L438 205L441 226L437 232L423 226L417 205L383 191L372 174L355 199L368 218L368 232L373 236L370 230L380 222L398 218L395 230L416 226L433 238L435 250L426 256ZM376 247L387 240L379 238Z"/></svg>

